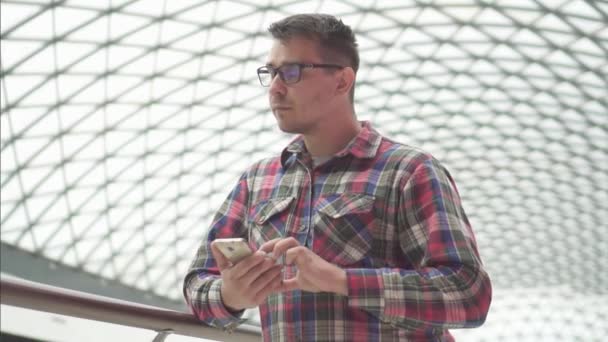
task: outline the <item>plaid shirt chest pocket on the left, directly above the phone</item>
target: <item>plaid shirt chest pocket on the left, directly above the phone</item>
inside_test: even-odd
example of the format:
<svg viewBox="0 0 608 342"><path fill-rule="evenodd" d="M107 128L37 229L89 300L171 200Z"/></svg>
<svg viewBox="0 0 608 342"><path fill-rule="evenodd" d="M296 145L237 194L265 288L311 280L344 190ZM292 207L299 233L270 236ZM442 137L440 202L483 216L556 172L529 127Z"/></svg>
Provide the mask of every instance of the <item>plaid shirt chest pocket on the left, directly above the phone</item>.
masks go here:
<svg viewBox="0 0 608 342"><path fill-rule="evenodd" d="M270 198L249 211L249 241L259 248L264 242L285 236L293 197Z"/></svg>

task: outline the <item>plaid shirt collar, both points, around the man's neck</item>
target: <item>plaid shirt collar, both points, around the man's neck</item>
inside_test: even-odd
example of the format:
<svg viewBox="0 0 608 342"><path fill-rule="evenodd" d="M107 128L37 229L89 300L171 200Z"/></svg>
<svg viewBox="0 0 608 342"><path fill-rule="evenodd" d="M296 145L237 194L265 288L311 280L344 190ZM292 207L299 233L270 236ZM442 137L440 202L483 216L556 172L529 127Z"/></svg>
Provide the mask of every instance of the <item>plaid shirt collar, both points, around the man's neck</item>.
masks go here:
<svg viewBox="0 0 608 342"><path fill-rule="evenodd" d="M382 136L369 121L361 121L361 130L342 150L334 157L344 157L351 154L355 158L373 158L378 152ZM301 135L292 140L281 153L281 164L287 167L296 161L298 154L307 153L304 139Z"/></svg>

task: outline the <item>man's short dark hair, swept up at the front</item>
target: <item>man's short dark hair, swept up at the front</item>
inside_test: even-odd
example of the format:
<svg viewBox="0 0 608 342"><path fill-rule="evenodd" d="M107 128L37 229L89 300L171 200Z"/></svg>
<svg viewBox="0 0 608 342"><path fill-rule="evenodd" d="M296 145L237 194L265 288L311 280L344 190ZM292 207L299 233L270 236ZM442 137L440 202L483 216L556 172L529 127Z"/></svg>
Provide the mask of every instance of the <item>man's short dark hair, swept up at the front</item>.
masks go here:
<svg viewBox="0 0 608 342"><path fill-rule="evenodd" d="M325 63L336 63L351 67L355 74L359 70L359 51L355 34L342 20L329 14L296 14L277 21L268 27L274 39L287 41L293 37L304 37L317 41ZM354 85L351 102L354 99Z"/></svg>

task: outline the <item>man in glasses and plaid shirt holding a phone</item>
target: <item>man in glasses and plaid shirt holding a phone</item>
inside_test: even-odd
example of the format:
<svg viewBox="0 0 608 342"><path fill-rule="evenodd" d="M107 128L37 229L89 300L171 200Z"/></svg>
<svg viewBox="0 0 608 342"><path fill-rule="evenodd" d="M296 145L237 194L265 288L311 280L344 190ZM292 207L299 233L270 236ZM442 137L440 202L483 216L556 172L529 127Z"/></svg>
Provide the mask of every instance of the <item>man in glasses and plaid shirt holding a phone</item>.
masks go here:
<svg viewBox="0 0 608 342"><path fill-rule="evenodd" d="M355 116L354 34L328 15L272 24L260 82L298 134L251 166L186 275L202 321L227 330L259 306L265 341L451 341L486 317L491 285L447 170ZM217 238L253 255L231 264Z"/></svg>

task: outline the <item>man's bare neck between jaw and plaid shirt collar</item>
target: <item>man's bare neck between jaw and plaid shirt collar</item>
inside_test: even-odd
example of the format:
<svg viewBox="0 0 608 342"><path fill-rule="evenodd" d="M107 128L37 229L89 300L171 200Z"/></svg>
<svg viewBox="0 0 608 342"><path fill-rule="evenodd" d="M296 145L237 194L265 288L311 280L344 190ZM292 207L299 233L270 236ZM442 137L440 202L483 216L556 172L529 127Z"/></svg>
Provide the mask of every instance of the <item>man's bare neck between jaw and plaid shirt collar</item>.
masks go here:
<svg viewBox="0 0 608 342"><path fill-rule="evenodd" d="M343 119L323 122L314 132L303 134L306 149L312 156L332 156L359 134L361 124L352 112L348 115Z"/></svg>

